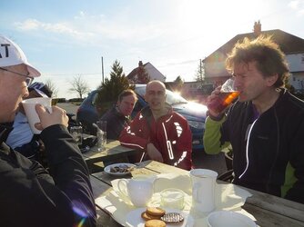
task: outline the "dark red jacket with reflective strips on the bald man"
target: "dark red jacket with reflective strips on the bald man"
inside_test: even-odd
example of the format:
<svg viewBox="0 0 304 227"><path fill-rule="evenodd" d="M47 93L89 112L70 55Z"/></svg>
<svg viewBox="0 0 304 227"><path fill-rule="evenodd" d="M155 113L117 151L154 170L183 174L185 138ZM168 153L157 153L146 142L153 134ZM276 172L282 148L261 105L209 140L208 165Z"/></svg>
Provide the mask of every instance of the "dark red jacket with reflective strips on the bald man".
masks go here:
<svg viewBox="0 0 304 227"><path fill-rule="evenodd" d="M164 163L190 170L192 167L192 133L187 120L170 107L166 115L154 119L145 107L120 134L122 145L145 150L153 143L162 154Z"/></svg>

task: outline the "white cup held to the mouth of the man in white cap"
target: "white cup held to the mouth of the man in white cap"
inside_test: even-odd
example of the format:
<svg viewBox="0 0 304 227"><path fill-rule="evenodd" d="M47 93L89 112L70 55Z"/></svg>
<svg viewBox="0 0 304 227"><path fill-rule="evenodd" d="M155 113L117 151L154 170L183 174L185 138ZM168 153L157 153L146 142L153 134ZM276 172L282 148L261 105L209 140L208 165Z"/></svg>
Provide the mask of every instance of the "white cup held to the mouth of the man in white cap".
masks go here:
<svg viewBox="0 0 304 227"><path fill-rule="evenodd" d="M31 98L31 99L25 99L24 101L22 101L28 123L29 123L33 133L35 133L35 134L41 133L40 130L35 128L35 123L40 123L39 116L35 112L35 105L41 104L48 110L49 113L52 113L51 103L52 103L52 98L48 98L48 97Z"/></svg>

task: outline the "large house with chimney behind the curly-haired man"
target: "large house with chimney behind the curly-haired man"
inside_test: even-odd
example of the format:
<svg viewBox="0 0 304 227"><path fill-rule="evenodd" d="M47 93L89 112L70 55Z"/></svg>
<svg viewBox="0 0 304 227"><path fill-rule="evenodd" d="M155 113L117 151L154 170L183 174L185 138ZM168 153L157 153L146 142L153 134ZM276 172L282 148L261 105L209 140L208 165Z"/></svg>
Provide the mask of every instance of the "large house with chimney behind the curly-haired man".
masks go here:
<svg viewBox="0 0 304 227"><path fill-rule="evenodd" d="M286 54L289 63L289 83L298 91L304 91L304 39L291 35L279 29L262 31L261 24L255 22L253 33L236 35L226 44L223 44L203 60L205 66L205 82L215 85L222 84L229 77L225 68L227 54L232 50L238 40L245 37L253 39L258 35L272 35L273 40L279 44L281 50Z"/></svg>

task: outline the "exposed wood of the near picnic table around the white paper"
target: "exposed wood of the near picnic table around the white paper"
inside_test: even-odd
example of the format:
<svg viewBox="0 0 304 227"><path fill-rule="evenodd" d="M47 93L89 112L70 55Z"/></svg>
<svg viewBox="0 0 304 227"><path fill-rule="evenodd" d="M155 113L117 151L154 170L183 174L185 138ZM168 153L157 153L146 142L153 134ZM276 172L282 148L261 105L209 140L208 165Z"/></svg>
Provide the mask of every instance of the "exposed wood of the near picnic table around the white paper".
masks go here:
<svg viewBox="0 0 304 227"><path fill-rule="evenodd" d="M132 175L126 175L124 178L131 178L137 174L157 175L159 173L186 172L185 170L155 161L145 161L137 164L137 166L138 168L132 172ZM95 199L110 192L112 188L111 181L114 179L117 179L117 177L104 172L93 173L91 175ZM247 188L244 189L252 193L252 196L247 198L242 208L257 219L256 223L258 226L304 226L304 204L285 200L267 193ZM109 213L104 212L98 204L96 204L96 208L98 226L121 226Z"/></svg>

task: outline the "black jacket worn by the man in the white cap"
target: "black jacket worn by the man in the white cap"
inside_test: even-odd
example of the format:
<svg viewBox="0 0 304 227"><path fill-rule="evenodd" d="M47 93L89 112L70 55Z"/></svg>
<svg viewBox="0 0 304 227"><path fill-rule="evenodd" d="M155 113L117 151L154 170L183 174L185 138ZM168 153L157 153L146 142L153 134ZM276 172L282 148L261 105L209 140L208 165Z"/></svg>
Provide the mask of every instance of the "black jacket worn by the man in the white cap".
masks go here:
<svg viewBox="0 0 304 227"><path fill-rule="evenodd" d="M50 174L3 143L7 132L1 125L1 226L96 226L86 163L66 127L52 125L41 133Z"/></svg>

